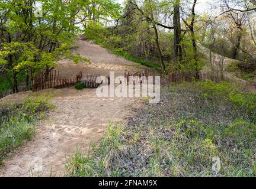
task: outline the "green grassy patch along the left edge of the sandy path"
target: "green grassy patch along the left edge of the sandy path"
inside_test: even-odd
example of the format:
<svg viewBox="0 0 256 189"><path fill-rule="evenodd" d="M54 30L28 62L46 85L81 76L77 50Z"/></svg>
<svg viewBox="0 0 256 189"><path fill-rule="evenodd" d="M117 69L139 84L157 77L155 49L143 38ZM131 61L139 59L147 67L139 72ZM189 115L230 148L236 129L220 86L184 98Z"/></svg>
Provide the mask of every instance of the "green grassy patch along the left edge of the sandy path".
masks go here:
<svg viewBox="0 0 256 189"><path fill-rule="evenodd" d="M0 164L9 152L34 137L37 121L45 118L53 107L46 96L29 96L23 102L0 104Z"/></svg>

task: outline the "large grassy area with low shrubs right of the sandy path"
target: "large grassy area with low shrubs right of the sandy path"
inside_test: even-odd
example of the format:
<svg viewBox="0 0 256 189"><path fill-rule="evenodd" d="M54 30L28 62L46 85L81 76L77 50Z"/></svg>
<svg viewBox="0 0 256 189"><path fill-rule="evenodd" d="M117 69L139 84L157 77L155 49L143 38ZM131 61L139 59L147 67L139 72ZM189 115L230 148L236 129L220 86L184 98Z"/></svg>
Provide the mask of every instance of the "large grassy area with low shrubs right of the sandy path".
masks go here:
<svg viewBox="0 0 256 189"><path fill-rule="evenodd" d="M162 87L128 126L69 157L73 177L256 177L256 94L230 83ZM215 159L220 169L214 169Z"/></svg>

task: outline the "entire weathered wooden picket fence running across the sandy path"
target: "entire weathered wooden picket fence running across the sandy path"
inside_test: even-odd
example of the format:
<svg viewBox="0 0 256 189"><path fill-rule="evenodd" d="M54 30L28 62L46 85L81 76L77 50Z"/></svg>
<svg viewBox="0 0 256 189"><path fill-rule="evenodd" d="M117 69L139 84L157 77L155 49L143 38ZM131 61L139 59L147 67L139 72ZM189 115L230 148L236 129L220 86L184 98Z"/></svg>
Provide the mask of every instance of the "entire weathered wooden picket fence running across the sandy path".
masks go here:
<svg viewBox="0 0 256 189"><path fill-rule="evenodd" d="M155 77L160 76L161 85L168 85L171 83L181 83L181 82L193 82L198 78L199 80L210 80L212 82L220 83L220 82L231 82L236 84L241 90L246 92L256 92L256 83L255 82L247 82L244 80L231 79L226 76L220 77L209 73L196 73L191 71L174 71L168 75L164 75L155 71L153 69L145 69L142 71L138 71L135 74L126 72L124 73L126 77L127 84L135 84L144 82L142 79L145 79L147 83L155 84ZM133 77L131 77L133 76ZM151 76L151 77L149 77ZM33 92L49 89L49 88L64 88L71 87L76 83L82 82L88 88L97 88L103 81L98 81L99 74L87 74L85 76L82 75L82 71L71 79L62 79L59 77L59 71L50 70L48 73L45 71L37 74L33 77L32 90ZM110 77L107 76L108 84L110 83Z"/></svg>

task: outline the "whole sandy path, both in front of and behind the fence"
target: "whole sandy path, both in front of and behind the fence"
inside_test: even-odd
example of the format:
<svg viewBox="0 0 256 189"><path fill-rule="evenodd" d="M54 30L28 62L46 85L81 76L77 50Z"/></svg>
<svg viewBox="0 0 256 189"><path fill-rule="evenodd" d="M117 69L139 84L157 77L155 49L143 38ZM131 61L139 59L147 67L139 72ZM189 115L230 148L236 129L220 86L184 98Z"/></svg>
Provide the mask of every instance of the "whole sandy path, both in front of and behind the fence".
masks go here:
<svg viewBox="0 0 256 189"><path fill-rule="evenodd" d="M106 75L116 71L139 69L137 64L116 57L104 48L87 41L78 41L76 49L81 56L91 59L91 64L72 64L69 60L60 61L57 69L63 76L70 77L81 69L85 73ZM62 176L67 155L76 148L86 151L91 142L98 142L109 122L124 121L132 112L132 105L139 99L98 98L95 89L78 91L74 88L47 89L39 93L53 95L56 110L37 126L36 137L26 142L13 154L9 154L0 168L0 177L29 177L51 174ZM27 96L29 93L22 93ZM8 96L17 98L19 94Z"/></svg>

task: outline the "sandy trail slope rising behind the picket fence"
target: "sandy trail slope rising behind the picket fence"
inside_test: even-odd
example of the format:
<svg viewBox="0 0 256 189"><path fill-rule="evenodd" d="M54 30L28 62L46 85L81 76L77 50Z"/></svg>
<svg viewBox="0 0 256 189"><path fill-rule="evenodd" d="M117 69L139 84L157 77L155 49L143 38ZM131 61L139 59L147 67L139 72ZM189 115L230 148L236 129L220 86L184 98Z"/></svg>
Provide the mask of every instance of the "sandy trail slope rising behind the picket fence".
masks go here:
<svg viewBox="0 0 256 189"><path fill-rule="evenodd" d="M60 70L60 76L64 78L75 77L79 71L83 71L84 74L97 73L101 74L101 76L108 76L110 71L115 71L116 76L124 76L124 71L142 69L139 64L117 57L92 42L80 40L77 45L78 48L75 48L73 53L89 58L91 63L73 64L71 60L60 61L56 70Z"/></svg>

